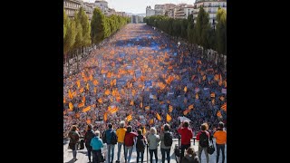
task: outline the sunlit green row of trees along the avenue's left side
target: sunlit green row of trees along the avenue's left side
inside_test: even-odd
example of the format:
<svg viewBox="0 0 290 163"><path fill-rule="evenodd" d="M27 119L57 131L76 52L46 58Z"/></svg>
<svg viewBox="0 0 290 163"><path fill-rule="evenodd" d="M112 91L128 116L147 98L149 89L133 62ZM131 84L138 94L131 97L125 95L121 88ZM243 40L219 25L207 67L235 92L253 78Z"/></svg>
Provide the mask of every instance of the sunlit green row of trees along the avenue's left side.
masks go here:
<svg viewBox="0 0 290 163"><path fill-rule="evenodd" d="M96 44L101 43L128 23L130 23L129 17L115 14L105 16L99 8L93 10L91 24L82 7L73 19L68 18L63 10L63 57L68 70L70 58L77 57L78 66L80 54L91 53Z"/></svg>

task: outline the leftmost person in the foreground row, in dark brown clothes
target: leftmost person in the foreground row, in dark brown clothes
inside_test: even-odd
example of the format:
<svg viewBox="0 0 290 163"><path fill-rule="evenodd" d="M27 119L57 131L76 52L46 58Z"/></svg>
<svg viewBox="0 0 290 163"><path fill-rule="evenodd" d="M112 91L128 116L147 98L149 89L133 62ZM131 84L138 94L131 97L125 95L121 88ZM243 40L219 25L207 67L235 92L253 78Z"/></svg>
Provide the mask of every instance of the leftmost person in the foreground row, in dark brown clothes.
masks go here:
<svg viewBox="0 0 290 163"><path fill-rule="evenodd" d="M73 149L73 160L76 161L76 154L77 154L77 149L78 149L78 143L80 139L80 134L77 131L77 128L75 125L72 126L72 130L69 132L69 138L70 138L70 149Z"/></svg>

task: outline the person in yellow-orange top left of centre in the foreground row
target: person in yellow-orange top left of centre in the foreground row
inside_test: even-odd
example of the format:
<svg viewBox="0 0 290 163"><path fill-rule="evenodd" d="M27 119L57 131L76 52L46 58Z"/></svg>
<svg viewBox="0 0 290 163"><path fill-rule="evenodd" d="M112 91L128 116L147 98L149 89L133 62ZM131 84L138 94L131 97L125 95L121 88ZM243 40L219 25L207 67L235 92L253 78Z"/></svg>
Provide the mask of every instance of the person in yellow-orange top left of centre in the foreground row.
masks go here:
<svg viewBox="0 0 290 163"><path fill-rule="evenodd" d="M124 139L125 139L126 130L127 129L125 129L125 121L122 120L120 122L120 128L117 129L117 131L116 131L116 134L118 137L118 154L117 154L118 158L117 158L116 163L120 163L121 146L123 146L124 153L125 153Z"/></svg>

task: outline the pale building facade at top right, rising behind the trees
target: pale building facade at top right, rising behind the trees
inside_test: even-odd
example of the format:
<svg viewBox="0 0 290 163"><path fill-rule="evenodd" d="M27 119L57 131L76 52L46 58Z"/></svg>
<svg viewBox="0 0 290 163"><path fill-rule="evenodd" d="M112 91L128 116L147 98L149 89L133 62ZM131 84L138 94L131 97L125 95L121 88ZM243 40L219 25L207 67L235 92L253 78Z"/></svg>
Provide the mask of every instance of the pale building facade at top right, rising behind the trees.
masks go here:
<svg viewBox="0 0 290 163"><path fill-rule="evenodd" d="M194 23L196 23L196 19L198 18L199 8L203 6L204 10L208 12L209 23L214 25L217 24L217 13L218 7L223 8L227 11L227 0L196 0L194 4L193 10L193 19Z"/></svg>

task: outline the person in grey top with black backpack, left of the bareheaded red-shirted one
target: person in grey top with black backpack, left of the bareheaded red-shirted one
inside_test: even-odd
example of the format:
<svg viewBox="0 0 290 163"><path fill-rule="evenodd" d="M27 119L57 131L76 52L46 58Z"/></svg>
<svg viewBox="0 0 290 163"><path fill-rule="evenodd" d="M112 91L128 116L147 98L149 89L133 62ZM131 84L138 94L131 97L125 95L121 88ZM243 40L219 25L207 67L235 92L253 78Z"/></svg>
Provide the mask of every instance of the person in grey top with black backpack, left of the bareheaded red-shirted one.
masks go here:
<svg viewBox="0 0 290 163"><path fill-rule="evenodd" d="M162 154L162 163L165 163L165 154L167 155L167 162L170 162L170 149L172 145L173 134L169 132L169 124L165 124L161 128L160 140L161 140L161 154Z"/></svg>

